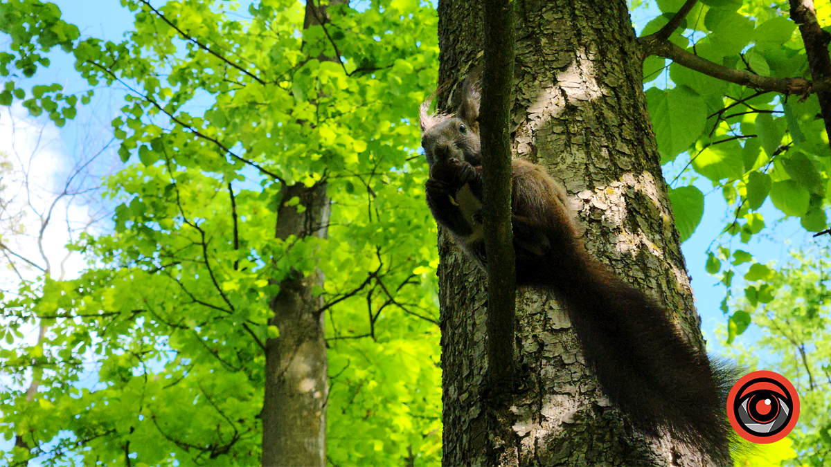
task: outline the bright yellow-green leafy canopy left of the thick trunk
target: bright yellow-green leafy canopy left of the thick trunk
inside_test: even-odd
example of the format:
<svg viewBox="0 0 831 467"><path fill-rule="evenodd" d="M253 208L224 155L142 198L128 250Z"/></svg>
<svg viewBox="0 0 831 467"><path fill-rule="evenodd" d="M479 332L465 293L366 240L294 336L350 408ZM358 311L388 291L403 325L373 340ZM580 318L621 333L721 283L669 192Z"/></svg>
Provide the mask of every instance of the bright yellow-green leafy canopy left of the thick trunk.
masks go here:
<svg viewBox="0 0 831 467"><path fill-rule="evenodd" d="M269 299L292 269L319 269L316 293L332 304L329 459L436 464L435 224L410 125L435 87L433 8L331 6L325 29L304 30L289 0L122 5L134 30L106 42L52 3L0 4L11 40L0 104L60 126L96 87L127 90L112 122L127 163L107 181L115 231L75 247L94 262L81 278L26 283L4 303L13 384L0 430L26 446L5 460L258 465L262 345L280 332ZM27 89L53 53L74 57L86 89ZM278 203L299 202L283 186L322 183L328 238L276 238ZM27 345L38 319L47 336Z"/></svg>

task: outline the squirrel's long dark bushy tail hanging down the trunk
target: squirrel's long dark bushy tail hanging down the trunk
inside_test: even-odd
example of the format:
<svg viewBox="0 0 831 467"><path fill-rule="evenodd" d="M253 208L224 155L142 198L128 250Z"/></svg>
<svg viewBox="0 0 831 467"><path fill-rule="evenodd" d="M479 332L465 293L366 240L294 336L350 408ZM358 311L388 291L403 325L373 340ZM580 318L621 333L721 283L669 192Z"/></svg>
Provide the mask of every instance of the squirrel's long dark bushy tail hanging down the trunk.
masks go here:
<svg viewBox="0 0 831 467"><path fill-rule="evenodd" d="M578 247L549 253L539 287L568 311L583 354L613 404L642 430L670 430L732 465L725 400L738 375L711 362L676 330L666 312ZM536 282L536 281L535 281Z"/></svg>

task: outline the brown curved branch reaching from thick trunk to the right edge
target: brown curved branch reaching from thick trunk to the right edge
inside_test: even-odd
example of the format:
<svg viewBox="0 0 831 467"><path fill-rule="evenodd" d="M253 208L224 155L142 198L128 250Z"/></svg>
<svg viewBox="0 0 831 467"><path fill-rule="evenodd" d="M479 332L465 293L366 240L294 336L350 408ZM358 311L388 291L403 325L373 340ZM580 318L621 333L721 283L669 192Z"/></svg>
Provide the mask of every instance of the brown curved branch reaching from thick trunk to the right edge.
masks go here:
<svg viewBox="0 0 831 467"><path fill-rule="evenodd" d="M759 76L750 71L734 70L726 66L698 57L672 42L661 40L655 34L639 39L644 50L644 57L656 55L669 58L681 66L700 71L707 76L728 81L741 86L748 86L760 91L779 92L785 96L802 96L813 92L831 91L831 78L809 81L805 78L771 78Z"/></svg>

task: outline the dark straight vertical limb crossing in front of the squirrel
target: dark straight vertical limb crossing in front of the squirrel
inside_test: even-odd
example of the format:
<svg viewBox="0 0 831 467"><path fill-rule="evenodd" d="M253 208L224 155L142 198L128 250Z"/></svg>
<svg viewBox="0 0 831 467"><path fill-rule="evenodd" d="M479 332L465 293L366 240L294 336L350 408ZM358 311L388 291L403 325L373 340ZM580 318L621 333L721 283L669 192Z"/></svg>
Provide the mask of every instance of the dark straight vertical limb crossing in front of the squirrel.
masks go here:
<svg viewBox="0 0 831 467"><path fill-rule="evenodd" d="M484 244L488 259L489 382L514 375L516 271L511 227L511 91L514 2L484 2L484 71L479 110L484 178Z"/></svg>

